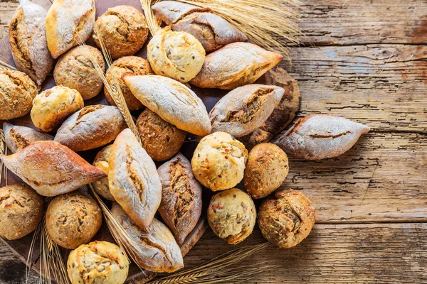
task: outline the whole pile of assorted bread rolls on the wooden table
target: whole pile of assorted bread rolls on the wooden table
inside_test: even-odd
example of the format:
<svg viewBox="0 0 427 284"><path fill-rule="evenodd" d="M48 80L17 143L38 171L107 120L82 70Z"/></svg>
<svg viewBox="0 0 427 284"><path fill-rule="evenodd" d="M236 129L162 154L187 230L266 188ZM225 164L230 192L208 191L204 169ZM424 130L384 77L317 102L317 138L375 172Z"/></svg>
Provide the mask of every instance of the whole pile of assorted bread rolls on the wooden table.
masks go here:
<svg viewBox="0 0 427 284"><path fill-rule="evenodd" d="M56 244L74 249L67 264L73 284L124 283L129 269L119 246L88 244L102 213L78 190L83 185L92 184L95 197L112 201L112 217L134 244L137 266L170 273L184 266L179 245L203 214L202 185L216 192L207 221L228 244L252 233L253 199L265 198L258 209L263 236L282 248L295 246L310 233L315 208L302 193L279 189L289 171L287 154L334 158L369 131L349 119L315 114L273 138L299 108L297 82L276 68L266 84L253 83L283 56L246 42L246 35L211 9L160 1L152 10L168 26L151 31L147 60L130 56L147 41L150 23L130 6L112 7L95 22L94 0L55 0L47 13L23 0L9 28L22 72L0 70L0 119L31 111L33 125L43 132L4 123L13 154L0 160L25 183L0 188L0 236L31 233L45 214L42 196L55 197L47 207L46 230ZM117 59L106 74L98 48L75 47L90 35L109 53L109 64ZM53 58L57 86L38 94ZM84 102L103 84L111 105ZM208 114L190 84L230 92ZM120 93L116 88L123 100L113 99ZM179 153L187 132L200 139L192 157L183 151L191 162ZM75 153L95 148L93 165Z"/></svg>

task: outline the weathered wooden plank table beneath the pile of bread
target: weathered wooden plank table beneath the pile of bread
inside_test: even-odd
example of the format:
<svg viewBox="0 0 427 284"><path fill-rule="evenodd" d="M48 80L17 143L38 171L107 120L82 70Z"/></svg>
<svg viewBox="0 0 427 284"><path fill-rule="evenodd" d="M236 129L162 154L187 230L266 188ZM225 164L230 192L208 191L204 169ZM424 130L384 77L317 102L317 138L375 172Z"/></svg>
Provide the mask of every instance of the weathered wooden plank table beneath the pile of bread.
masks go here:
<svg viewBox="0 0 427 284"><path fill-rule="evenodd" d="M283 65L300 84L299 117L334 114L372 130L339 158L290 160L283 186L310 197L317 224L293 249L248 258L281 263L250 283L426 283L427 1L302 1L304 45ZM0 38L17 5L0 2ZM263 241L256 230L237 247ZM209 230L185 265L233 248ZM24 271L0 245L0 283L24 283Z"/></svg>

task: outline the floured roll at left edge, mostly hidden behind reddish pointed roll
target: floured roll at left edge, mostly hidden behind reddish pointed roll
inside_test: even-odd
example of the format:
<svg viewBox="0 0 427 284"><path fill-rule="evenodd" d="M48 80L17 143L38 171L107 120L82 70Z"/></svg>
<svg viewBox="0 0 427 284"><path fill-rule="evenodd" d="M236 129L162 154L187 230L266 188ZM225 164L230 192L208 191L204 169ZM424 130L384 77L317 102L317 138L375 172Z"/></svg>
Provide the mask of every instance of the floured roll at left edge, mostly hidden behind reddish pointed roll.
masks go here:
<svg viewBox="0 0 427 284"><path fill-rule="evenodd" d="M19 152L30 145L30 143L36 141L53 140L53 136L49 134L35 131L26 126L8 124L7 122L3 124L3 132L6 146L12 153Z"/></svg>

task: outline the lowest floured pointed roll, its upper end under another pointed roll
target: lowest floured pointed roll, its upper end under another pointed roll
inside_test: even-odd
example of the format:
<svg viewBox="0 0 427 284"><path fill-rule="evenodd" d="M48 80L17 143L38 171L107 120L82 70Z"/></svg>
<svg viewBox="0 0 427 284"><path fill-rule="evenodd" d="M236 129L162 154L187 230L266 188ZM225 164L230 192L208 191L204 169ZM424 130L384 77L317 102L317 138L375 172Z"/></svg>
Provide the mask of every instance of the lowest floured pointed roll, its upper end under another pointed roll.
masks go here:
<svg viewBox="0 0 427 284"><path fill-rule="evenodd" d="M111 213L137 245L135 262L139 267L169 273L184 267L181 250L171 231L162 222L154 218L152 224L143 231L116 202L112 202Z"/></svg>

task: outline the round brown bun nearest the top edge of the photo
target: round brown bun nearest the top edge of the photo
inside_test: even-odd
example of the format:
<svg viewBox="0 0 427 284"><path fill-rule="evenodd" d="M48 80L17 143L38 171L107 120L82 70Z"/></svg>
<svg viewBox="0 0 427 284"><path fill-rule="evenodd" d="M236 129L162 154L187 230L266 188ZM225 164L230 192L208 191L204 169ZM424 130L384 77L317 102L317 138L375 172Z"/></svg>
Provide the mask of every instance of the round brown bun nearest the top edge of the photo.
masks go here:
<svg viewBox="0 0 427 284"><path fill-rule="evenodd" d="M115 6L103 13L95 22L93 40L101 48L104 43L112 59L134 55L148 37L144 15L132 6Z"/></svg>

